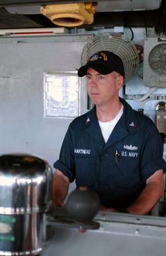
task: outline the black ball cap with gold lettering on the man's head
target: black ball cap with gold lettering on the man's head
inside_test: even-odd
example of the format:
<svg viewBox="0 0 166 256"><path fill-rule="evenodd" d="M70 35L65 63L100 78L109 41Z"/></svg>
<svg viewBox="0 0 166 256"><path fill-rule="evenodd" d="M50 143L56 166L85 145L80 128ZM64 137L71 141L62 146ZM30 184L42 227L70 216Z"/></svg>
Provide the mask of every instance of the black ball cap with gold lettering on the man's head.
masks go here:
<svg viewBox="0 0 166 256"><path fill-rule="evenodd" d="M78 76L85 76L85 74L87 74L87 68L89 67L95 69L100 74L109 74L116 71L122 76L125 76L122 59L109 51L100 51L92 55L87 61L87 64L79 68Z"/></svg>

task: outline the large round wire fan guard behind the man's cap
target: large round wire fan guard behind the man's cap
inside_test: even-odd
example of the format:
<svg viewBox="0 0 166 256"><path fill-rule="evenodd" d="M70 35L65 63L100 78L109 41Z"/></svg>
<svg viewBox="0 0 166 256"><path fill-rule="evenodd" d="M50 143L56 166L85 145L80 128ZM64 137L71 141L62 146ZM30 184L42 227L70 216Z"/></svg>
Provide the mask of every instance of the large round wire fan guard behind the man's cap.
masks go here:
<svg viewBox="0 0 166 256"><path fill-rule="evenodd" d="M135 74L139 63L138 51L134 43L121 33L100 33L88 39L81 54L81 65L86 64L98 51L110 51L122 59L125 71L124 84Z"/></svg>

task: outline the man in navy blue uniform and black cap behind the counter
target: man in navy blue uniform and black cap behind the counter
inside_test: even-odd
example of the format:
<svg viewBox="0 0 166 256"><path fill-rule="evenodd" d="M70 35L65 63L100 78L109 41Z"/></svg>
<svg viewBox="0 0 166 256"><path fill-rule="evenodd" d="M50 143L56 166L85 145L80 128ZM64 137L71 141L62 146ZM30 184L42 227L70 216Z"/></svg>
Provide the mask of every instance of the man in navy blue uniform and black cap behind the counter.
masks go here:
<svg viewBox="0 0 166 256"><path fill-rule="evenodd" d="M92 110L71 122L54 163L53 203L63 206L69 183L99 195L101 210L147 214L164 191L161 136L151 119L122 98L118 55L95 53L78 70L87 77Z"/></svg>

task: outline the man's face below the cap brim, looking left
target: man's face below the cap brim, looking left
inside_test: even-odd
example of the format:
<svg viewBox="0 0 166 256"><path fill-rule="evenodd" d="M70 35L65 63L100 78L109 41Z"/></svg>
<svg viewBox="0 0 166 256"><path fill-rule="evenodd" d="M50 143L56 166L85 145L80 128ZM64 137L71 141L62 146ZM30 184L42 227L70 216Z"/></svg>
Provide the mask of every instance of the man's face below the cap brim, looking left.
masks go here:
<svg viewBox="0 0 166 256"><path fill-rule="evenodd" d="M87 92L96 106L107 106L117 100L122 87L123 77L117 72L99 74L93 68L87 68Z"/></svg>

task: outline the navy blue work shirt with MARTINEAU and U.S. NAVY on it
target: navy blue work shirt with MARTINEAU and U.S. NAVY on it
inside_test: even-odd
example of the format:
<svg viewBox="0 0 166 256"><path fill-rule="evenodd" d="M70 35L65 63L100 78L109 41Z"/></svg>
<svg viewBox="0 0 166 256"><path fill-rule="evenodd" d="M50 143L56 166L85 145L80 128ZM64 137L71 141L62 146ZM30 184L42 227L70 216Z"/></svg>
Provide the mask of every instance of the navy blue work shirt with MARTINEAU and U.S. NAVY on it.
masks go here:
<svg viewBox="0 0 166 256"><path fill-rule="evenodd" d="M145 181L165 169L163 143L153 121L120 98L124 112L105 143L95 107L69 124L54 168L98 193L105 207L123 209Z"/></svg>

